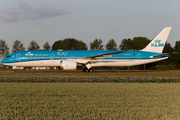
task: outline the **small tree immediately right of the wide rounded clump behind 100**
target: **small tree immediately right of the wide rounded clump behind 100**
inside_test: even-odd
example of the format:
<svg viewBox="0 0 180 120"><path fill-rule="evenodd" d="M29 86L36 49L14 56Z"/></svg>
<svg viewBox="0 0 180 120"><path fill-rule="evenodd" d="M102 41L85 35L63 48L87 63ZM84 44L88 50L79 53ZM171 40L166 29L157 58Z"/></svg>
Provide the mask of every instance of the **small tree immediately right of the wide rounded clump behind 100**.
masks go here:
<svg viewBox="0 0 180 120"><path fill-rule="evenodd" d="M95 39L93 42L90 42L91 50L104 50L101 39Z"/></svg>

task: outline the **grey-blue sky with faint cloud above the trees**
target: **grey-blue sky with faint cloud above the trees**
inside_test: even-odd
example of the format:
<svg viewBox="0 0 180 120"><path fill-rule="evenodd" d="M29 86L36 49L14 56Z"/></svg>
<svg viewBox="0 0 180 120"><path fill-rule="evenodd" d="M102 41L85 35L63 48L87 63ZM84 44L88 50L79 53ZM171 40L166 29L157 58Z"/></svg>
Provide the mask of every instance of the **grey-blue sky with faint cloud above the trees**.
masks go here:
<svg viewBox="0 0 180 120"><path fill-rule="evenodd" d="M179 0L0 0L0 39L12 50L20 40L28 48L35 40L40 48L57 40L75 38L87 43L124 38L153 39L172 26L167 40L180 40Z"/></svg>

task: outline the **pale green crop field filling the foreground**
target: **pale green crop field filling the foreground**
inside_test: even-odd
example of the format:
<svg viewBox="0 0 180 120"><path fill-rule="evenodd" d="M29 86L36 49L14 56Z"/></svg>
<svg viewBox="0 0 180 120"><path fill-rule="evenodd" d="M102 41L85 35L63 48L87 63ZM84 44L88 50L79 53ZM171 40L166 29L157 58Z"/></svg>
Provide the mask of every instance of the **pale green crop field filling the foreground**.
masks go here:
<svg viewBox="0 0 180 120"><path fill-rule="evenodd" d="M179 83L0 83L0 119L180 119Z"/></svg>

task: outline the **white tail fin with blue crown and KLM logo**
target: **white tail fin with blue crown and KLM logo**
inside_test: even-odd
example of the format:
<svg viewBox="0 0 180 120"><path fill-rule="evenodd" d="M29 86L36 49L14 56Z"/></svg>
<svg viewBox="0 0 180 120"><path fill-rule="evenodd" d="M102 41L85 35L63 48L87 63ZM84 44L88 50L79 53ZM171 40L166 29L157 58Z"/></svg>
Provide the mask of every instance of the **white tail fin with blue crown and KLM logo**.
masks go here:
<svg viewBox="0 0 180 120"><path fill-rule="evenodd" d="M142 51L162 53L172 27L165 27Z"/></svg>

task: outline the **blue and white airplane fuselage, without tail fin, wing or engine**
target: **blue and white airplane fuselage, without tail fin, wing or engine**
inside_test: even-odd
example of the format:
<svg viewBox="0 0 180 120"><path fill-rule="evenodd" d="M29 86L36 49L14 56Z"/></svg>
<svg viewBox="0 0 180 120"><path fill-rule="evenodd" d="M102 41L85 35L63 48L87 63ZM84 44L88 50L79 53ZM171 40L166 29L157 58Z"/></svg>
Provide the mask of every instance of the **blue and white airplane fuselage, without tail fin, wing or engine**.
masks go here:
<svg viewBox="0 0 180 120"><path fill-rule="evenodd" d="M9 66L59 66L61 60L76 61L79 64L86 64L88 57L118 52L120 50L63 50L63 51L20 51L9 54L1 63ZM104 56L91 62L92 67L97 66L133 66L156 62L167 59L168 56L162 53L145 51L126 51L110 56Z"/></svg>

